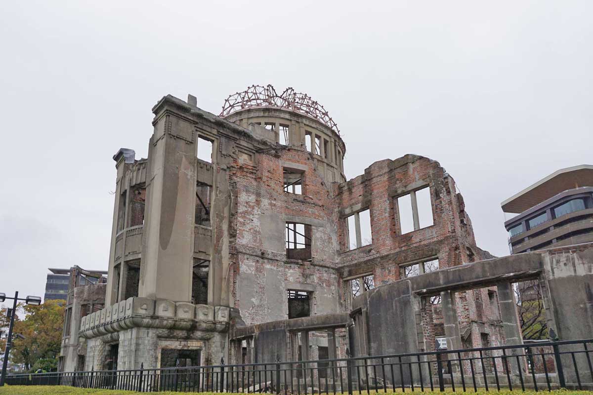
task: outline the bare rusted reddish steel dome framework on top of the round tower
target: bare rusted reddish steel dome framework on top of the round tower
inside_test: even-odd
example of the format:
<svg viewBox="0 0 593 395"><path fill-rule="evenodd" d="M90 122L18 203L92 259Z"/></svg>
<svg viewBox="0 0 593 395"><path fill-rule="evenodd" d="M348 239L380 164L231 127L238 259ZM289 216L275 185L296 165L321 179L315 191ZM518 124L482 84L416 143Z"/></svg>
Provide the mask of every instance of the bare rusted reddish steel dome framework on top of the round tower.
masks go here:
<svg viewBox="0 0 593 395"><path fill-rule="evenodd" d="M331 119L323 105L314 101L309 95L295 92L292 88L286 88L281 95L276 93L272 85L251 85L243 92L230 95L222 105L220 117L227 117L235 111L250 107L280 107L287 110L297 111L315 118L330 129L340 134L337 124Z"/></svg>

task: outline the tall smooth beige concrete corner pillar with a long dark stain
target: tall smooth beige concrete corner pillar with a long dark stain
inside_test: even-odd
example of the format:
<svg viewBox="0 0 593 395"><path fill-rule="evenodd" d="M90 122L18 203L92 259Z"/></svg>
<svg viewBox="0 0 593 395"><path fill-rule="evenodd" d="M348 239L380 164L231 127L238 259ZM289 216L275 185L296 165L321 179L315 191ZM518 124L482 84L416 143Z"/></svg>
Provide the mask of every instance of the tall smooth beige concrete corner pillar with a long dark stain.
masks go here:
<svg viewBox="0 0 593 395"><path fill-rule="evenodd" d="M191 301L195 126L168 101L153 108L139 296Z"/></svg>

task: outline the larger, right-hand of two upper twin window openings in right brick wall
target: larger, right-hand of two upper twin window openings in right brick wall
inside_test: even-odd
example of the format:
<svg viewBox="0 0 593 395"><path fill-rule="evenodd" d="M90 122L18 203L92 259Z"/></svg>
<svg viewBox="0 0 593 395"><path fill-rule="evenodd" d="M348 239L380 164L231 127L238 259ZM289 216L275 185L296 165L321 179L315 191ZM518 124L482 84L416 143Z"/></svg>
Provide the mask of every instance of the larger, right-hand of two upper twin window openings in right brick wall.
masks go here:
<svg viewBox="0 0 593 395"><path fill-rule="evenodd" d="M397 214L400 235L434 224L432 216L431 189L412 191L397 198Z"/></svg>

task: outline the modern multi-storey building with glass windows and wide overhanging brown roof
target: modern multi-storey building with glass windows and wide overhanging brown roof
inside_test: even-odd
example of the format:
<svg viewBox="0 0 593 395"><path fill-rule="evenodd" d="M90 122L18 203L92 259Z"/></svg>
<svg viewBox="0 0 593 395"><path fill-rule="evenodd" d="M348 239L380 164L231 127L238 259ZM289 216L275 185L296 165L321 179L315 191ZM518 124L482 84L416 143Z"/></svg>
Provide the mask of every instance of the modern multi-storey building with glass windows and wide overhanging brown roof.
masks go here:
<svg viewBox="0 0 593 395"><path fill-rule="evenodd" d="M593 165L560 169L502 202L511 253L593 242Z"/></svg>

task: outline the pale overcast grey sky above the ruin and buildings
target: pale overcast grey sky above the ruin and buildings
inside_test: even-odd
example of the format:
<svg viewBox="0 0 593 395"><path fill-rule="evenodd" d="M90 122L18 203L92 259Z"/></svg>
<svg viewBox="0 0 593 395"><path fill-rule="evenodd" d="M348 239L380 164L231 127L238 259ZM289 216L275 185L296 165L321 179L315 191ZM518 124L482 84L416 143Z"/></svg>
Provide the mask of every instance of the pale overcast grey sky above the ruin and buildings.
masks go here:
<svg viewBox="0 0 593 395"><path fill-rule="evenodd" d="M216 4L218 3L218 4ZM0 292L48 267L106 269L120 147L151 107L218 114L251 84L307 92L375 160L438 160L478 245L508 254L500 202L592 163L593 2L5 1L0 13Z"/></svg>

